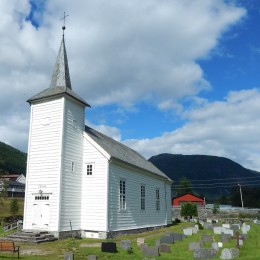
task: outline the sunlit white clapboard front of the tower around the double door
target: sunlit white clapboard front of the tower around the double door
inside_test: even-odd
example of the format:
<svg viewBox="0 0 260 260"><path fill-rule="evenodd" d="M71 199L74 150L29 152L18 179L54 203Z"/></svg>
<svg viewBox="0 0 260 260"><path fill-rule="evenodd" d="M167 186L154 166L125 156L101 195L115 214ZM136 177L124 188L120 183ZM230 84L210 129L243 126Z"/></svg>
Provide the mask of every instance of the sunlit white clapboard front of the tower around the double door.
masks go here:
<svg viewBox="0 0 260 260"><path fill-rule="evenodd" d="M37 203L35 196L39 190L50 197L50 222L46 228L58 228L62 119L62 98L31 106L24 229L34 228L33 204Z"/></svg>

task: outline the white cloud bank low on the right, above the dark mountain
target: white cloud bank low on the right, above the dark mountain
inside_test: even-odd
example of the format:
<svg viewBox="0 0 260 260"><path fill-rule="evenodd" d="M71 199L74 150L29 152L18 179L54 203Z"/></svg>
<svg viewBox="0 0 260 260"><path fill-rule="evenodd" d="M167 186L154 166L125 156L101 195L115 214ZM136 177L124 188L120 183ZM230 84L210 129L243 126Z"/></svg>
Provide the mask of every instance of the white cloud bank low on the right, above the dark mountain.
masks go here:
<svg viewBox="0 0 260 260"><path fill-rule="evenodd" d="M189 123L182 128L124 143L147 158L160 153L217 155L260 171L259 99L260 89L232 91L224 101L184 112Z"/></svg>

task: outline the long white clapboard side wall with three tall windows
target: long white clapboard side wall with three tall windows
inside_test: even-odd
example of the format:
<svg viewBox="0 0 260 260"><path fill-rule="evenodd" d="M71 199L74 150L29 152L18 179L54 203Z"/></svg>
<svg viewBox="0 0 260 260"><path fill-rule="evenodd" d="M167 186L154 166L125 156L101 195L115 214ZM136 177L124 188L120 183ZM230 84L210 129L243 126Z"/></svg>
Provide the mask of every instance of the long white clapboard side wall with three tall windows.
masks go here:
<svg viewBox="0 0 260 260"><path fill-rule="evenodd" d="M126 210L119 208L120 180L126 182ZM141 185L145 186L145 210L141 210ZM165 180L154 175L136 168L125 168L112 161L109 172L109 230L166 225L165 185ZM160 210L156 210L156 189L160 190Z"/></svg>

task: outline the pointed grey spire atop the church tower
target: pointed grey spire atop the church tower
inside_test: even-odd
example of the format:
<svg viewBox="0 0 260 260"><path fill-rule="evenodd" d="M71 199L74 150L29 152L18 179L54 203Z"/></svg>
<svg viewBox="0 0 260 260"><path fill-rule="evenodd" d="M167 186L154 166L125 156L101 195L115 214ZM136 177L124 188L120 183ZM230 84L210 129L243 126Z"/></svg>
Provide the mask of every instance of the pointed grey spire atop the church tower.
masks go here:
<svg viewBox="0 0 260 260"><path fill-rule="evenodd" d="M60 50L58 53L50 84L50 88L55 87L66 87L71 89L69 65L65 48L64 34L62 35Z"/></svg>

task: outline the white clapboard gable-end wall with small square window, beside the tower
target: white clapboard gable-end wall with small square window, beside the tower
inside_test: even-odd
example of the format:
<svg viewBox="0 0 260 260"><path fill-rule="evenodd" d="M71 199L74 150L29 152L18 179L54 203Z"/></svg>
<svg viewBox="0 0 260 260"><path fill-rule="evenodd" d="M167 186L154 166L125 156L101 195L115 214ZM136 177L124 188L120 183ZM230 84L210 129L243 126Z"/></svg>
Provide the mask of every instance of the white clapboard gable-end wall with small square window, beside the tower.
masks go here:
<svg viewBox="0 0 260 260"><path fill-rule="evenodd" d="M83 162L82 229L106 231L108 159L85 138ZM88 163L94 166L93 175L87 175Z"/></svg>

